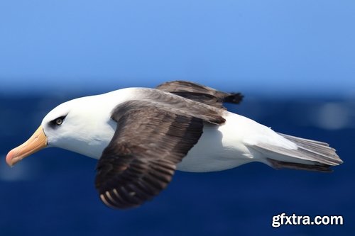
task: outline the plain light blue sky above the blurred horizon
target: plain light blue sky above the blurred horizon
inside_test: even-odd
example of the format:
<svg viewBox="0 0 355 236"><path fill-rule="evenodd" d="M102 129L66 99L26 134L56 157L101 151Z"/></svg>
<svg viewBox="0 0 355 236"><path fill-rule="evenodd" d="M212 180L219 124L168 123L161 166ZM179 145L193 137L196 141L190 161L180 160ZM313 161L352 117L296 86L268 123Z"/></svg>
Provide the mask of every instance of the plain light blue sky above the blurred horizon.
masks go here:
<svg viewBox="0 0 355 236"><path fill-rule="evenodd" d="M185 79L355 94L355 1L0 1L0 93Z"/></svg>

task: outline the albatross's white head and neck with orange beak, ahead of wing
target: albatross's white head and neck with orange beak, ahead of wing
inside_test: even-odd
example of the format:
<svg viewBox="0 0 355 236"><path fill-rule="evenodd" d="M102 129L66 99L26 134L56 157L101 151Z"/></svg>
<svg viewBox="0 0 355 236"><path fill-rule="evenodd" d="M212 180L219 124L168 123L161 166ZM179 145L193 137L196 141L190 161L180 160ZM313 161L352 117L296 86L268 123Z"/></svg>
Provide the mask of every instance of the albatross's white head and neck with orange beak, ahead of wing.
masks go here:
<svg viewBox="0 0 355 236"><path fill-rule="evenodd" d="M111 109L97 96L60 104L43 118L26 142L7 154L7 164L13 166L44 147L60 147L99 158L116 128L110 120Z"/></svg>

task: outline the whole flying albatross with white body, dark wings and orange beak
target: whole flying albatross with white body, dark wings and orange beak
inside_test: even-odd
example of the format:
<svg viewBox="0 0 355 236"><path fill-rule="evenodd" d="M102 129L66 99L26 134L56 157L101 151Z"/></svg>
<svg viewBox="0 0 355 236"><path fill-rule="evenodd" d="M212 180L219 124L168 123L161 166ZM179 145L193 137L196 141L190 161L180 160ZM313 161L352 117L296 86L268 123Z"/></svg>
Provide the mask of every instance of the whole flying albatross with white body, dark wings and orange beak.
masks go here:
<svg viewBox="0 0 355 236"><path fill-rule="evenodd" d="M240 93L184 81L74 99L50 111L6 162L12 167L44 147L99 159L95 187L112 208L151 200L175 170L217 172L262 162L329 172L342 164L325 142L277 133L223 106L242 99Z"/></svg>

